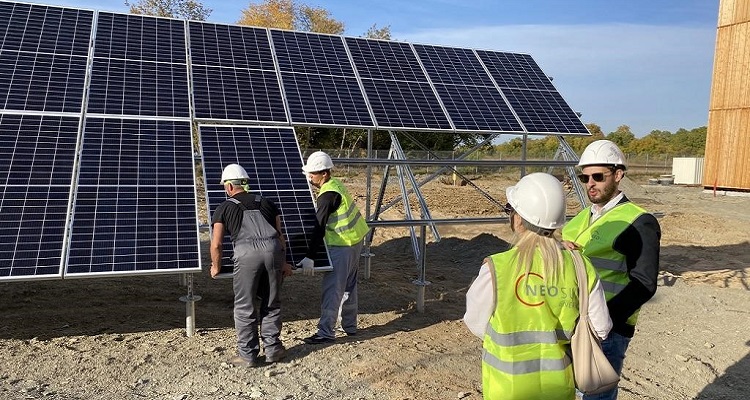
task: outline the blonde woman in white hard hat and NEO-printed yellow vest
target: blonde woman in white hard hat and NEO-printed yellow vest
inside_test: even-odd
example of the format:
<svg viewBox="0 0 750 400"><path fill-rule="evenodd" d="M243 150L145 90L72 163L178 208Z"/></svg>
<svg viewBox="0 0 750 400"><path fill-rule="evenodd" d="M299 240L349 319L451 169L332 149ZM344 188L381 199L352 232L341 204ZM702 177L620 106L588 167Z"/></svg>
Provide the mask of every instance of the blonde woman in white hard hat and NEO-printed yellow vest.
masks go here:
<svg viewBox="0 0 750 400"><path fill-rule="evenodd" d="M484 340L482 392L493 400L573 400L570 338L581 312L607 337L604 291L583 257L590 299L588 310L578 309L575 264L554 235L565 222L557 178L529 174L506 195L513 245L484 260L466 293L464 323Z"/></svg>

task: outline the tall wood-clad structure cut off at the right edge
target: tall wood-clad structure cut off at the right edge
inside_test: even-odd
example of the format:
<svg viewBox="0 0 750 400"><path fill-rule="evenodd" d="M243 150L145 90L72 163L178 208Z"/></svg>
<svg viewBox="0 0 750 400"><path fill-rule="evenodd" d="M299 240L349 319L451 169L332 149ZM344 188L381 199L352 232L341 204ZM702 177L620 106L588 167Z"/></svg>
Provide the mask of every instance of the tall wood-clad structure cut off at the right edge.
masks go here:
<svg viewBox="0 0 750 400"><path fill-rule="evenodd" d="M750 0L721 0L703 186L750 191Z"/></svg>

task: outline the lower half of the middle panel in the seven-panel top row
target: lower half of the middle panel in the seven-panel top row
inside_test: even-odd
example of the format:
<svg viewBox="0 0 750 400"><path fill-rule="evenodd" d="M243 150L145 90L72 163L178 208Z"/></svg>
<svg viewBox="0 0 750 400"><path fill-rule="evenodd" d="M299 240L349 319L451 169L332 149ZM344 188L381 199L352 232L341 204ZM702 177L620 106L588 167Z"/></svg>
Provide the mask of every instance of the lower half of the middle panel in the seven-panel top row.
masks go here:
<svg viewBox="0 0 750 400"><path fill-rule="evenodd" d="M356 78L281 73L292 123L374 127Z"/></svg>

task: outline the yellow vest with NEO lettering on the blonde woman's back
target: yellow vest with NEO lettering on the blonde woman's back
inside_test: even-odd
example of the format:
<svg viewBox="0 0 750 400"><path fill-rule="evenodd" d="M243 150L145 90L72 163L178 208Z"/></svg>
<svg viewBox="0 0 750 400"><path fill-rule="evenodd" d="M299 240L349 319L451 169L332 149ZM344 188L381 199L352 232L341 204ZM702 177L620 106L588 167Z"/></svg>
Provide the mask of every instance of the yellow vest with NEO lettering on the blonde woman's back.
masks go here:
<svg viewBox="0 0 750 400"><path fill-rule="evenodd" d="M517 253L512 248L490 257L497 301L483 343L484 398L574 399L566 351L579 315L575 264L563 252L563 271L545 281L537 251L527 279L525 271L516 272ZM585 258L584 263L591 292L596 272Z"/></svg>

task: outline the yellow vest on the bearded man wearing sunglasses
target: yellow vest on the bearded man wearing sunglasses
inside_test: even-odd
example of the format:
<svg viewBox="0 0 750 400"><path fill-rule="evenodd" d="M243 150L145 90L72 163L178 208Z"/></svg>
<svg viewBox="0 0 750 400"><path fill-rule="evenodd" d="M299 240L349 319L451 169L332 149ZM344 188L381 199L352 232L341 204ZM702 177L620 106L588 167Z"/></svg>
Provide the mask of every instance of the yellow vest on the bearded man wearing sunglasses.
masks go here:
<svg viewBox="0 0 750 400"><path fill-rule="evenodd" d="M580 245L581 253L594 264L607 301L620 293L630 282L625 256L615 251L612 246L617 237L644 213L646 210L643 208L626 202L618 204L591 223L591 207L587 207L563 227L563 240ZM636 310L628 317L628 325L635 326L639 311L640 309Z"/></svg>

